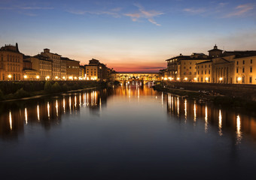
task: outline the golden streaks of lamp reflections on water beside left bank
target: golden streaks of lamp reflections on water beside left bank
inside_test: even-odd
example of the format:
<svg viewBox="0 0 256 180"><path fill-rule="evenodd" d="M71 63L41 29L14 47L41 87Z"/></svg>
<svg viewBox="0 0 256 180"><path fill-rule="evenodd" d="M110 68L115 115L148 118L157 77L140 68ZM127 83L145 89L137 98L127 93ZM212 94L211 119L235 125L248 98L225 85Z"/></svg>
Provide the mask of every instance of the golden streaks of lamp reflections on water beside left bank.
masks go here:
<svg viewBox="0 0 256 180"><path fill-rule="evenodd" d="M69 115L76 115L83 107L88 108L90 113L98 112L106 105L107 98L112 94L113 90L102 89L79 94L63 94L54 98L44 97L2 103L0 104L0 138L16 138L19 132L23 132L24 124L30 126L41 124L48 130L61 122L62 115L66 115L66 111ZM69 102L69 107L66 102Z"/></svg>

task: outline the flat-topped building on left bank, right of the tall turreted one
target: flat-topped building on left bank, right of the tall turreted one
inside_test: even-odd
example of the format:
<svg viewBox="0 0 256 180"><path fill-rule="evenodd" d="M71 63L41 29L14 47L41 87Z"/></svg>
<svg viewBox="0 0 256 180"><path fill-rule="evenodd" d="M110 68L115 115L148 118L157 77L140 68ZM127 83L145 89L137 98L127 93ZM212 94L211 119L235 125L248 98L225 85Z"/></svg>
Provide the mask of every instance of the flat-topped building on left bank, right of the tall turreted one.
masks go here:
<svg viewBox="0 0 256 180"><path fill-rule="evenodd" d="M78 80L80 65L78 61L70 58L60 58L62 62L66 62L66 80ZM64 74L62 79L65 79Z"/></svg>

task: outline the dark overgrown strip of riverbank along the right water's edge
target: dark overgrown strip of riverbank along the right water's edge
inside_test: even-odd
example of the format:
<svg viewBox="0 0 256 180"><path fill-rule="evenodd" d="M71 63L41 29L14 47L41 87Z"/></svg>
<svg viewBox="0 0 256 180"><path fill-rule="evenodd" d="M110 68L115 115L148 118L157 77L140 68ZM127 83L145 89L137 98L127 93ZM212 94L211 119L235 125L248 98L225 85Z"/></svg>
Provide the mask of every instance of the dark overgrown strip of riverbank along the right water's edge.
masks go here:
<svg viewBox="0 0 256 180"><path fill-rule="evenodd" d="M212 91L201 91L200 89L197 89L197 91L190 91L184 88L169 86L164 82L158 83L153 88L160 92L171 93L173 95L181 96L182 98L199 101L200 103L212 102L213 104L220 105L222 107L234 107L250 111L254 111L256 109L256 101L246 100L242 97L221 95Z"/></svg>

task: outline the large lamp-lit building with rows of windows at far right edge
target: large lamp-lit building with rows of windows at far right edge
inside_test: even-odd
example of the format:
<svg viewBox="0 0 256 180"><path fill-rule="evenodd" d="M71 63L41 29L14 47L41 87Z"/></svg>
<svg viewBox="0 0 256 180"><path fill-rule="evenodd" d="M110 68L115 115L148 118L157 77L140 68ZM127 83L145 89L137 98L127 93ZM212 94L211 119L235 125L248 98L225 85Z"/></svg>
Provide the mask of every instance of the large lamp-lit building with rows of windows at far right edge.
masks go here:
<svg viewBox="0 0 256 180"><path fill-rule="evenodd" d="M210 56L210 55L209 55ZM256 51L225 51L197 63L199 83L256 84Z"/></svg>

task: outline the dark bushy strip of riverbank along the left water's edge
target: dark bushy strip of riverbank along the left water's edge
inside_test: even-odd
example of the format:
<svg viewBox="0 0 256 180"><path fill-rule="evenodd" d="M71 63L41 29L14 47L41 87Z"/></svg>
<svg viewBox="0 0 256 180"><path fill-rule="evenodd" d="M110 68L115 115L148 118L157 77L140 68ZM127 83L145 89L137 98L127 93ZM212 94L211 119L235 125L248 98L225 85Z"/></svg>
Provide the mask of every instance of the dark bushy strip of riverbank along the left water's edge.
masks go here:
<svg viewBox="0 0 256 180"><path fill-rule="evenodd" d="M96 81L0 82L0 101L106 86L107 83Z"/></svg>

